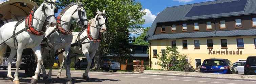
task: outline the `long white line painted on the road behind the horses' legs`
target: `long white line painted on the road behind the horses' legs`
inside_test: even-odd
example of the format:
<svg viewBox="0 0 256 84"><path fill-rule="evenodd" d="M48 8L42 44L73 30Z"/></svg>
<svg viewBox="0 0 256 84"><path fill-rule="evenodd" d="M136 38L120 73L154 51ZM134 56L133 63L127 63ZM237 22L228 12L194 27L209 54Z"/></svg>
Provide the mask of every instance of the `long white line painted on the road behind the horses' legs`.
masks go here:
<svg viewBox="0 0 256 84"><path fill-rule="evenodd" d="M56 73L56 72L54 72ZM80 73L72 73L72 74L80 74ZM82 75L82 74L81 74ZM98 76L106 76L99 74L89 74L89 75L98 75ZM207 82L207 81L193 81L193 80L180 80L180 79L164 79L164 78L149 78L149 77L134 77L134 76L117 76L117 75L108 75L108 76L116 76L116 77L131 77L131 78L148 78L148 79L162 79L162 80L177 80L177 81L191 81L191 82L204 82L204 83L221 83L221 82ZM239 84L239 83L221 83L221 84Z"/></svg>

